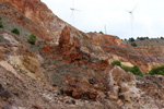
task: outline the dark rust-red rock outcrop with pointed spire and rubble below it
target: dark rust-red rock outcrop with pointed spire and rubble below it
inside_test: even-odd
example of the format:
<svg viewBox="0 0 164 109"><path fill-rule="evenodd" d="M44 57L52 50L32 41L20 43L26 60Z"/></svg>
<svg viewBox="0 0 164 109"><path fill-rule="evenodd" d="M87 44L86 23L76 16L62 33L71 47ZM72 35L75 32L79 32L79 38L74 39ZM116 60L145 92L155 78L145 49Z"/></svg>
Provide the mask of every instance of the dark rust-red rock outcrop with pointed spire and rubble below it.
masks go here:
<svg viewBox="0 0 164 109"><path fill-rule="evenodd" d="M61 89L61 92L65 95L71 96L75 99L95 100L99 95L99 92L104 93L104 87L102 86L103 89L99 89L99 92L97 92L101 87L99 84L93 84L90 80L87 80L87 77L91 76L91 70L93 68L99 68L99 71L97 71L97 73L101 73L102 71L107 69L109 64L107 60L93 59L90 53L84 53L80 50L80 48L81 44L79 39L75 37L72 38L69 27L66 26L60 35L59 45L54 49L57 49L57 51L60 52L58 53L58 57L62 57L62 61L67 61L67 64L70 65L77 64L77 66L69 69L68 73L71 74L69 77L67 77L67 75L62 76L65 80L67 80L67 89ZM94 61L97 61L97 63L94 63ZM77 74L74 74L74 71ZM74 77L72 74L74 74L74 76L77 77ZM95 75L93 74L92 76ZM103 77L99 76L99 80L103 80ZM98 85L99 87L96 85Z"/></svg>

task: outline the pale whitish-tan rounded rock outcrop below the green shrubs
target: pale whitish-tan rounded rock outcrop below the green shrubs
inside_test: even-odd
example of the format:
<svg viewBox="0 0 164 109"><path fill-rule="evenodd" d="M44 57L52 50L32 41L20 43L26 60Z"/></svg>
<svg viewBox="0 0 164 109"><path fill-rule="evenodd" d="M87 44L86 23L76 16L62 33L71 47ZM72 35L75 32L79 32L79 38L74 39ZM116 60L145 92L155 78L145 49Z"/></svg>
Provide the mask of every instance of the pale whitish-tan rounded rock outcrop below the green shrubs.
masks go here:
<svg viewBox="0 0 164 109"><path fill-rule="evenodd" d="M108 76L112 95L116 96L116 99L131 102L133 99L140 97L140 92L136 87L136 78L132 73L125 72L119 66L114 66L114 69L109 71Z"/></svg>

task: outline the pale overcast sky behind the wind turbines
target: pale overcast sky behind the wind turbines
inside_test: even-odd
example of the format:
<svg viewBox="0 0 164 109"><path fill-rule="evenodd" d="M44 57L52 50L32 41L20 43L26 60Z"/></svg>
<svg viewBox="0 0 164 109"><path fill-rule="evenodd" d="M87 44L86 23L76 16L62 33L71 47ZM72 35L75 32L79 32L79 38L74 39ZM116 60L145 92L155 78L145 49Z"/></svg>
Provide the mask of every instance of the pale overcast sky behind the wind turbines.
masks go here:
<svg viewBox="0 0 164 109"><path fill-rule="evenodd" d="M164 37L164 0L42 1L58 17L84 33L103 32L121 39Z"/></svg>

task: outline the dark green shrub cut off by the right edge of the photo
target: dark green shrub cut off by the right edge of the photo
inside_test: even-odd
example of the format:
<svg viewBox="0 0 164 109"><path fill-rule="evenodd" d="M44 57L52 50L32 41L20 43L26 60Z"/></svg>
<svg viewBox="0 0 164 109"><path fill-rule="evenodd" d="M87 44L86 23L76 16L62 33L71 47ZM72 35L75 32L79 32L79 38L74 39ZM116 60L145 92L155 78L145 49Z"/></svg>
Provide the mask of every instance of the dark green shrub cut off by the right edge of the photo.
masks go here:
<svg viewBox="0 0 164 109"><path fill-rule="evenodd" d="M160 74L160 75L164 75L164 65L159 66L159 68L153 68L149 74L154 75L154 74Z"/></svg>

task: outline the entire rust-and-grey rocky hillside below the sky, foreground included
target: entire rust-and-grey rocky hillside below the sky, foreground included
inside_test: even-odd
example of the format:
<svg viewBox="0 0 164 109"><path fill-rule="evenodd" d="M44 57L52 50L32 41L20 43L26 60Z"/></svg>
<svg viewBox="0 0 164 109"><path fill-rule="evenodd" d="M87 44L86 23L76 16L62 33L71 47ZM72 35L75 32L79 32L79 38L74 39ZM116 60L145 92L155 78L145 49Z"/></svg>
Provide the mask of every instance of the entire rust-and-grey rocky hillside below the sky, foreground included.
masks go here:
<svg viewBox="0 0 164 109"><path fill-rule="evenodd" d="M163 75L112 65L138 65L144 74L163 65L163 47L133 48L117 36L85 34L40 0L1 0L0 17L1 109L164 108Z"/></svg>

